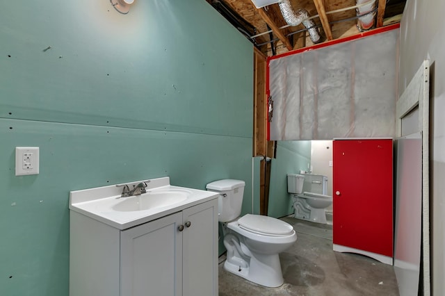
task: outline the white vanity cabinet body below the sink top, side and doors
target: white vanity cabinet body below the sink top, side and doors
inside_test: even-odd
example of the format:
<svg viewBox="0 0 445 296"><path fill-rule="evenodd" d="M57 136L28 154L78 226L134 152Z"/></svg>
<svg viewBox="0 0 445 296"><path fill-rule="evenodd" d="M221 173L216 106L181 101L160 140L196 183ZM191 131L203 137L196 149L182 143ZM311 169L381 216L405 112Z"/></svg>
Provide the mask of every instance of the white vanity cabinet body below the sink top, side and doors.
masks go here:
<svg viewBox="0 0 445 296"><path fill-rule="evenodd" d="M70 211L70 296L218 295L218 199L129 229Z"/></svg>

